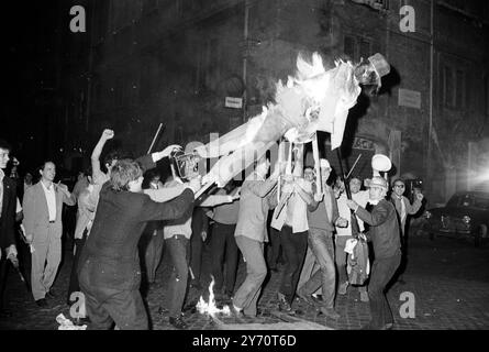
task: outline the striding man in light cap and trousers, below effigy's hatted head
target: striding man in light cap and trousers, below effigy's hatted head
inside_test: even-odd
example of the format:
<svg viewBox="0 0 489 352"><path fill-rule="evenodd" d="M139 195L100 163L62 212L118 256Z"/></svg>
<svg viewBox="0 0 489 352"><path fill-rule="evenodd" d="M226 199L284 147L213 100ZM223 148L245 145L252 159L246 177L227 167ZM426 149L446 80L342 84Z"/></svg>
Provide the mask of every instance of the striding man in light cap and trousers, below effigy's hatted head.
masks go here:
<svg viewBox="0 0 489 352"><path fill-rule="evenodd" d="M314 193L314 200L308 206L308 242L320 270L299 288L298 295L308 302L315 304L311 295L321 287L321 312L327 318L338 319L340 315L334 310L336 268L334 265L333 233L335 226L344 228L348 222L340 217L334 191L326 185L331 174L330 163L322 158L320 167L324 194L318 195Z"/></svg>

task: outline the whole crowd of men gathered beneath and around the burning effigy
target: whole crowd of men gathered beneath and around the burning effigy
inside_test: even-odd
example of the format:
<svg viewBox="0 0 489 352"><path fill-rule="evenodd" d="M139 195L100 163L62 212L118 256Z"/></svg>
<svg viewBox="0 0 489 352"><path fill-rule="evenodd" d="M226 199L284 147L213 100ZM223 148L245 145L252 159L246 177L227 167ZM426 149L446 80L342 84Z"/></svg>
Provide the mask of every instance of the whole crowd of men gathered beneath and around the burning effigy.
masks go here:
<svg viewBox="0 0 489 352"><path fill-rule="evenodd" d="M168 172L156 167L178 145L137 160L109 153L101 163L104 145L113 138L112 130L102 132L89 169L71 191L55 182L52 161L40 167L37 183L29 173L22 184L15 183L5 175L11 147L0 141L1 315L9 314L3 290L9 263L19 265L19 241L30 249L35 304L48 307L49 299L58 296L53 284L62 258L66 205L77 206L67 304L73 304L73 293L82 293L89 329L148 329L141 283L151 286L156 280L164 248L173 266L166 283L169 322L187 329L186 294L189 287L202 289L204 282L203 243L211 253L215 297L230 304L233 315L251 319L258 315L265 278L278 271L281 248L278 309L296 315L294 305L301 299L326 318L338 319L336 295L358 284L347 271L347 249L352 241L363 240L371 242L374 257L368 280L356 285L360 300L370 306L371 321L365 329L392 328L386 286L405 267L400 264L405 264L407 219L423 200L418 193L411 204L403 196L402 179L390 188L385 177L354 176L344 185L332 179L325 158L319 162L316 178L318 165L304 165L299 147L290 169L277 163L270 173L270 161L264 156L241 184L231 180L201 196L197 172L182 176L173 163L167 163ZM241 257L246 277L237 286Z"/></svg>

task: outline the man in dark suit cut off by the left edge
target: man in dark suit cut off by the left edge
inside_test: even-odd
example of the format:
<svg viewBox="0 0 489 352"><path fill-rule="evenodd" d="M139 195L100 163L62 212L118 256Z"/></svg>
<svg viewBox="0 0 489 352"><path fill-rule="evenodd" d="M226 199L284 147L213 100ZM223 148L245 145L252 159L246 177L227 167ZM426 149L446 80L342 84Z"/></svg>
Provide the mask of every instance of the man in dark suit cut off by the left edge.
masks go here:
<svg viewBox="0 0 489 352"><path fill-rule="evenodd" d="M3 309L7 261L16 260L14 237L16 205L15 182L7 177L3 173L10 160L9 153L10 145L0 140L0 317L7 315L7 311Z"/></svg>

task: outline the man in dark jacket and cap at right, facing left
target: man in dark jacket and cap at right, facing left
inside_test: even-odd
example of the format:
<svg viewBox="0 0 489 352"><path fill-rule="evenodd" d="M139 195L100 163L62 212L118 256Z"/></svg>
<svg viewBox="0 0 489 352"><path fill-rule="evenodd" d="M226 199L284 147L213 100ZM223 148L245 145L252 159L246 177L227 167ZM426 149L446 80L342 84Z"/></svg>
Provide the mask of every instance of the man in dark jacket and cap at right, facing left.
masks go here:
<svg viewBox="0 0 489 352"><path fill-rule="evenodd" d="M401 262L401 241L394 206L385 199L388 190L387 180L380 176L371 178L369 202L374 205L368 212L354 200L347 206L355 210L359 219L370 226L368 238L374 244L375 261L371 266L368 296L370 298L371 321L364 329L391 329L392 312L387 301L385 289Z"/></svg>

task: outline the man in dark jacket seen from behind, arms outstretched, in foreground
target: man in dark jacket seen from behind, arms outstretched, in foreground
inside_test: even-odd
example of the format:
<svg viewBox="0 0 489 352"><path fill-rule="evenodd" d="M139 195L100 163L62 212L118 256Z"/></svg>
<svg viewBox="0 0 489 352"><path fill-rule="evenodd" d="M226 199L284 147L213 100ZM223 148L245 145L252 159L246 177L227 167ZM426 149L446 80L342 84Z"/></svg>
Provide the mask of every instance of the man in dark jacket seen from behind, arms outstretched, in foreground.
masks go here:
<svg viewBox="0 0 489 352"><path fill-rule="evenodd" d="M167 153L169 154L169 153ZM167 156L167 154L165 156ZM200 183L167 202L153 201L142 193L143 169L155 166L151 156L119 161L100 191L90 237L79 264L79 282L86 298L90 329L147 329L140 294L141 268L137 242L152 220L178 219L193 206Z"/></svg>

